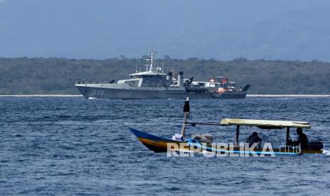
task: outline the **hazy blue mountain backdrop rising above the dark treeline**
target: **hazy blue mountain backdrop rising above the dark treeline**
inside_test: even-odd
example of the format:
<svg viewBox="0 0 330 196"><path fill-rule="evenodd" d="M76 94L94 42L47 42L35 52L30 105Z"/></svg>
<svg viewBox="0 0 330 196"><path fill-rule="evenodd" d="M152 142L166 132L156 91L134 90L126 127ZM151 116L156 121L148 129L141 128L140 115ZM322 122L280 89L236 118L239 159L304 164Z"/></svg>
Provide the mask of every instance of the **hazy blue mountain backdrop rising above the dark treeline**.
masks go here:
<svg viewBox="0 0 330 196"><path fill-rule="evenodd" d="M330 1L6 0L1 57L330 61Z"/></svg>

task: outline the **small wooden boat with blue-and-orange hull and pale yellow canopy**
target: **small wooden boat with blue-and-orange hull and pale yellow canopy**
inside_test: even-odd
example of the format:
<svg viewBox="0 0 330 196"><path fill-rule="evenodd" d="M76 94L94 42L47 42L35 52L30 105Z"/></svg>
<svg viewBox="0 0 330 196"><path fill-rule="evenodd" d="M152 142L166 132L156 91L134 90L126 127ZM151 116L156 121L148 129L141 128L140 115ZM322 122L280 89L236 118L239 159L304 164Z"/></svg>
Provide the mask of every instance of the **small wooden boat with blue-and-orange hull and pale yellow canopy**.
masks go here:
<svg viewBox="0 0 330 196"><path fill-rule="evenodd" d="M302 128L302 129L310 129L311 125L306 121L274 121L274 120L256 120L256 119L222 119L219 123L203 123L203 122L188 122L187 116L189 114L189 99L185 102L184 107L185 119L182 124L182 132L181 134L176 134L177 137L173 136L170 138L163 138L159 136L154 136L152 134L145 133L143 131L139 131L137 129L130 130L133 134L138 138L144 146L149 148L151 151L156 153L171 151L194 151L199 150L201 145L203 145L202 141L197 138L185 138L185 129L186 125L190 124L195 126L199 125L209 125L209 126L236 126L236 142L233 146L227 146L227 148L221 148L221 150L214 148L215 146L212 143L204 143L204 150L216 153L255 153L255 154L264 154L264 155L277 155L277 154L304 154L304 153L323 153L323 143L321 142L311 142L312 145L309 148L302 149L300 146L292 146L290 143L290 129L291 128ZM251 148L242 148L242 143L239 143L238 137L240 133L241 126L255 126L261 130L273 130L273 129L285 129L286 131L286 141L285 145L279 146L277 148L261 148L255 147L251 150ZM176 144L176 145L173 145ZM170 148L169 148L170 146ZM177 147L175 147L177 146ZM183 147L181 147L183 146ZM243 150L242 150L243 149Z"/></svg>

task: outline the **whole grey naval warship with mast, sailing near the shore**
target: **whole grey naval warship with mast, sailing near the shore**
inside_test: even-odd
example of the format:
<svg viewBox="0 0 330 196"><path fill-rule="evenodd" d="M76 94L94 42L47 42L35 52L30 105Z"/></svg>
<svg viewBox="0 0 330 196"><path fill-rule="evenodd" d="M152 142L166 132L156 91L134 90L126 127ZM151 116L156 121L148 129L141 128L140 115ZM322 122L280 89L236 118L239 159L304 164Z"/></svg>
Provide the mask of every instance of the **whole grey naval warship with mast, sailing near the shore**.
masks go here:
<svg viewBox="0 0 330 196"><path fill-rule="evenodd" d="M75 87L85 98L99 99L244 99L250 85L236 87L226 77L214 77L207 82L184 79L183 72L177 77L162 67L154 67L155 53L151 51L144 72L129 75L130 79L111 82L77 82Z"/></svg>

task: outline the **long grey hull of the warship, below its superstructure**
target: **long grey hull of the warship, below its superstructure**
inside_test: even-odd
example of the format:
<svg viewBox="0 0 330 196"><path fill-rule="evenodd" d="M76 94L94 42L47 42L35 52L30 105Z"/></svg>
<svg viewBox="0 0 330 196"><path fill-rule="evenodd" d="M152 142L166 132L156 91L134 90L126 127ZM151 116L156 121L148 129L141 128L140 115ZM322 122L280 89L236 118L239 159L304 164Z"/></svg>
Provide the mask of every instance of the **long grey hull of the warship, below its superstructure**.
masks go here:
<svg viewBox="0 0 330 196"><path fill-rule="evenodd" d="M75 85L79 92L86 98L99 99L244 99L246 92L233 91L224 93L191 93L180 87L138 87L121 88L98 87L99 85Z"/></svg>

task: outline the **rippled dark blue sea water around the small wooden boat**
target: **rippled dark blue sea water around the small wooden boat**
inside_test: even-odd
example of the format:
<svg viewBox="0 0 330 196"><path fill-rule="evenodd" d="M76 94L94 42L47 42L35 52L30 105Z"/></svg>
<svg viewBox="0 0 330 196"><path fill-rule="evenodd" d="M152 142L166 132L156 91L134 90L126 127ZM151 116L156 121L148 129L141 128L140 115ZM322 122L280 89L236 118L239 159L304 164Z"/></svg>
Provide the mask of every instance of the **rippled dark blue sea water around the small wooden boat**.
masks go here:
<svg viewBox="0 0 330 196"><path fill-rule="evenodd" d="M309 121L324 154L274 157L167 157L145 148L128 127L171 138L184 100L0 97L0 195L328 195L330 97L190 100L189 121L223 118ZM285 129L242 127L263 141ZM187 127L234 142L234 126ZM295 130L291 131L297 138Z"/></svg>

